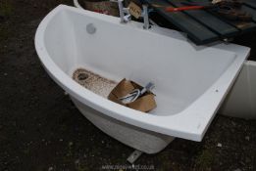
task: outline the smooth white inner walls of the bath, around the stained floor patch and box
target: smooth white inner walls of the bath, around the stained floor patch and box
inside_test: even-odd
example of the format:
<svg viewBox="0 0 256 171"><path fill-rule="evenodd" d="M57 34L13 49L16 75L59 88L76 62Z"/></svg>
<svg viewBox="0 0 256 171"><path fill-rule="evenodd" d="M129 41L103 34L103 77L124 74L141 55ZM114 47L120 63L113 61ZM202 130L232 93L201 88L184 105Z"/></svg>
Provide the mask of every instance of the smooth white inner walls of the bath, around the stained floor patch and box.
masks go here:
<svg viewBox="0 0 256 171"><path fill-rule="evenodd" d="M86 31L91 23L94 34ZM183 51L180 40L141 31L119 20L111 23L67 10L48 25L44 41L55 64L68 75L81 67L115 82L123 78L141 85L154 82L158 107L150 113L156 115L173 115L189 107L236 57L230 51L187 44Z"/></svg>

